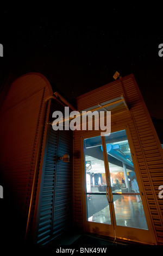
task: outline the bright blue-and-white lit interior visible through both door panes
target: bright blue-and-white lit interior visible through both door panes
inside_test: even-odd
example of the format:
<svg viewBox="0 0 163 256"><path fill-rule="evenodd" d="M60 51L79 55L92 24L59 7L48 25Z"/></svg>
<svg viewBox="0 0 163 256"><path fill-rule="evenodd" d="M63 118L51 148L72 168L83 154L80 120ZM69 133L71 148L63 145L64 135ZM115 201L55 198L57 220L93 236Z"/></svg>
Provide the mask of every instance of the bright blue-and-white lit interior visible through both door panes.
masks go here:
<svg viewBox="0 0 163 256"><path fill-rule="evenodd" d="M111 223L106 197L111 184L116 225L148 229L126 131L105 137L110 181L106 181L101 136L84 140L87 221ZM109 197L109 196L108 196Z"/></svg>

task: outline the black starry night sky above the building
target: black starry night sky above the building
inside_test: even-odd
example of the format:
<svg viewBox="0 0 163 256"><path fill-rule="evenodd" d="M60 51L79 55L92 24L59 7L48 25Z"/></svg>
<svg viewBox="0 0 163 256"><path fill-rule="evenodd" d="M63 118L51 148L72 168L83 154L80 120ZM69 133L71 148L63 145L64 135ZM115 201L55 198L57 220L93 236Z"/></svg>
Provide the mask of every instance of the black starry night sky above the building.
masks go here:
<svg viewBox="0 0 163 256"><path fill-rule="evenodd" d="M122 77L133 73L151 117L163 119L160 5L56 3L1 8L1 82L10 73L40 72L53 92L74 103L114 81L116 71Z"/></svg>

